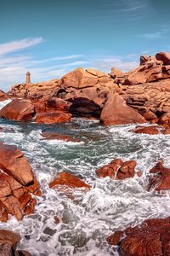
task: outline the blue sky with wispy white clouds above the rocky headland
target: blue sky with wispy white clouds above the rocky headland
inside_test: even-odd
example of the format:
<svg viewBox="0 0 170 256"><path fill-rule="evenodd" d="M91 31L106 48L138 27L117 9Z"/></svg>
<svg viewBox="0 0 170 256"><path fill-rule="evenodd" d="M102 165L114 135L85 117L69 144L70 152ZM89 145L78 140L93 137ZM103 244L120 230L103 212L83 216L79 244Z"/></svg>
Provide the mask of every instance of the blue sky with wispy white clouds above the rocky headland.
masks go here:
<svg viewBox="0 0 170 256"><path fill-rule="evenodd" d="M170 52L169 0L0 0L0 89Z"/></svg>

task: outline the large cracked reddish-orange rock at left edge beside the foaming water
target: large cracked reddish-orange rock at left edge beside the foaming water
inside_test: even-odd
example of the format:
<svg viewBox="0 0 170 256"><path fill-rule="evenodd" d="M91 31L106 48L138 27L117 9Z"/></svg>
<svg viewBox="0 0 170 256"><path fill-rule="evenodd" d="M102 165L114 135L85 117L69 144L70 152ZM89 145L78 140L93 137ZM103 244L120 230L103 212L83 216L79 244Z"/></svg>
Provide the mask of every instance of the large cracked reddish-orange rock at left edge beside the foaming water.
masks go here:
<svg viewBox="0 0 170 256"><path fill-rule="evenodd" d="M8 214L20 220L34 211L36 199L31 194L41 195L41 190L19 149L0 143L0 155L0 220L7 221Z"/></svg>

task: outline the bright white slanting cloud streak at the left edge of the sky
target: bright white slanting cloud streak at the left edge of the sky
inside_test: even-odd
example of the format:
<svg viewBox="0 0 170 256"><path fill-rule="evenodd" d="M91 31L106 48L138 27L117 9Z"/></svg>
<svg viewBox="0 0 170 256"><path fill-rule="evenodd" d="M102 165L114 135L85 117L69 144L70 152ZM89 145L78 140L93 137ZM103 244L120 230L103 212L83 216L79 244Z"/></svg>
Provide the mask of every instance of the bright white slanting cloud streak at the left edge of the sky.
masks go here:
<svg viewBox="0 0 170 256"><path fill-rule="evenodd" d="M24 38L18 41L8 42L6 44L0 44L0 55L7 55L12 52L16 52L21 49L29 48L33 45L42 43L42 38Z"/></svg>

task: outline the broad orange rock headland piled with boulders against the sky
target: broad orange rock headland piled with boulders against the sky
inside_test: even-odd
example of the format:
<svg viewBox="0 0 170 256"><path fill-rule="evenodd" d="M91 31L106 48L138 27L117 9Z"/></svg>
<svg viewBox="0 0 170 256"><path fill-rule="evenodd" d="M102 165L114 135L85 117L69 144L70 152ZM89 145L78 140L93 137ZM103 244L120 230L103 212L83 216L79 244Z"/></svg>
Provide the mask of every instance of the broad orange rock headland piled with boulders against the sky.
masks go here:
<svg viewBox="0 0 170 256"><path fill-rule="evenodd" d="M30 99L37 113L50 112L49 109L53 112L65 111L74 116L99 118L104 125L131 122L168 124L169 55L142 55L140 66L127 73L116 68L112 68L111 74L92 68L77 68L61 79L38 84L15 84L8 96Z"/></svg>

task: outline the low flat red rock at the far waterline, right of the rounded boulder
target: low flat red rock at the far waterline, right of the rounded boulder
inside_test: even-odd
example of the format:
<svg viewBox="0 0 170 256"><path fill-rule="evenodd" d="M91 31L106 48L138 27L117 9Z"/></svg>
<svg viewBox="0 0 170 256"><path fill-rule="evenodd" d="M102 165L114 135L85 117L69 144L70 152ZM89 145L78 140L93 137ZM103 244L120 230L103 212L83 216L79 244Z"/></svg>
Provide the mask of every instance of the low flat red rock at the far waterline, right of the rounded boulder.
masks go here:
<svg viewBox="0 0 170 256"><path fill-rule="evenodd" d="M39 124L58 124L63 122L69 122L71 120L71 113L65 113L62 111L54 111L48 113L37 113L36 123Z"/></svg>

